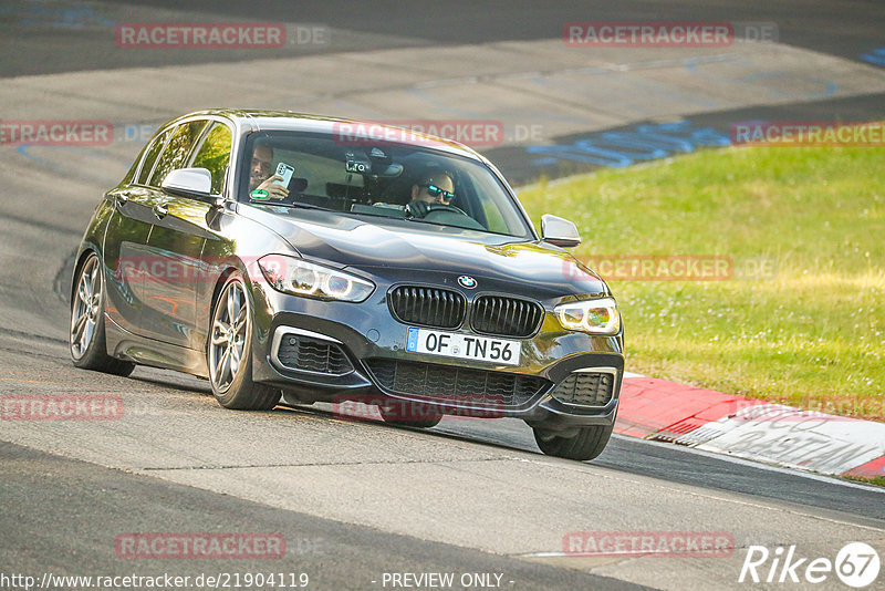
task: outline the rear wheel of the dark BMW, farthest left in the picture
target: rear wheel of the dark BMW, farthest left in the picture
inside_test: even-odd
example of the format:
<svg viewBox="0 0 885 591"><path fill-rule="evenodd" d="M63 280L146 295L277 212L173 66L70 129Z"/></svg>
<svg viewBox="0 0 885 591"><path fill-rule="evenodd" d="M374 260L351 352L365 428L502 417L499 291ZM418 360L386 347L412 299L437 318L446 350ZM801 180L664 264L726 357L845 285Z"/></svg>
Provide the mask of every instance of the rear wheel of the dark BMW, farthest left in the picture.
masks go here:
<svg viewBox="0 0 885 591"><path fill-rule="evenodd" d="M91 252L74 277L67 349L74 366L127 376L135 363L107 354L104 333L104 273L98 255Z"/></svg>

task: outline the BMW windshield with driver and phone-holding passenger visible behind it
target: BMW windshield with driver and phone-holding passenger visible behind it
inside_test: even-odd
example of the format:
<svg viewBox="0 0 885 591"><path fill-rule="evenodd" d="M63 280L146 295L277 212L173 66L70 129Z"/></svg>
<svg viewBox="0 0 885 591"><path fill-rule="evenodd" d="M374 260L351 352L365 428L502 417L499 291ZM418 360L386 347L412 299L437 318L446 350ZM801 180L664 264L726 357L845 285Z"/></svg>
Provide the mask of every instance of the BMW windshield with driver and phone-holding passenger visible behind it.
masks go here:
<svg viewBox="0 0 885 591"><path fill-rule="evenodd" d="M250 134L242 154L240 201L531 238L516 198L470 158L298 132Z"/></svg>

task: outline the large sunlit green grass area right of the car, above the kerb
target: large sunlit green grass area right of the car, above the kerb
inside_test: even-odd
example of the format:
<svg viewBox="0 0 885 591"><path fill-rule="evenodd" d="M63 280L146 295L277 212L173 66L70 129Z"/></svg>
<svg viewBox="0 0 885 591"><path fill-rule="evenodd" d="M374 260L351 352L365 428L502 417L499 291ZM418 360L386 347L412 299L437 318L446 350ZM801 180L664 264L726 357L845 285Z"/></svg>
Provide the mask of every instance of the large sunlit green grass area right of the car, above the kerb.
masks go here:
<svg viewBox="0 0 885 591"><path fill-rule="evenodd" d="M743 147L520 191L581 260L718 256L727 280L606 278L628 371L885 421L885 148ZM662 277L662 276L656 276Z"/></svg>

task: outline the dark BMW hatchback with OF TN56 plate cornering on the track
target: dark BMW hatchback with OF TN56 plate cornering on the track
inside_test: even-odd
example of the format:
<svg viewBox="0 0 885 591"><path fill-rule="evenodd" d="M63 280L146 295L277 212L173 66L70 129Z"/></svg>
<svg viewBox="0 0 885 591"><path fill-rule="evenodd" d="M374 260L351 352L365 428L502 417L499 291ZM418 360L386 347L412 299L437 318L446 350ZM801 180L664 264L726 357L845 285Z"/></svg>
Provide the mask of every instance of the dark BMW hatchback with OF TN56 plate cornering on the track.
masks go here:
<svg viewBox="0 0 885 591"><path fill-rule="evenodd" d="M363 401L384 421L517 417L545 454L605 448L621 314L472 149L400 127L217 110L163 125L98 203L71 356L208 379L228 408Z"/></svg>

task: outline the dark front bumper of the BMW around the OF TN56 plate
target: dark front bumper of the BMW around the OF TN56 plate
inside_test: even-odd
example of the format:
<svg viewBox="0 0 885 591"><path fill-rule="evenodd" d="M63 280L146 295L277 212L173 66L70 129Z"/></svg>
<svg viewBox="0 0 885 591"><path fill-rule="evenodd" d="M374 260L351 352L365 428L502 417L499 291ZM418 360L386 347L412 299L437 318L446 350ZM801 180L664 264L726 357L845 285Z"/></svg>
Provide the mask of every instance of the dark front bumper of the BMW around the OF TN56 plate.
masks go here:
<svg viewBox="0 0 885 591"><path fill-rule="evenodd" d="M398 401L449 415L517 417L531 426L556 432L614 423L624 374L623 335L596 336L565 331L546 305L540 331L521 340L520 364L498 365L406 351L409 325L393 317L386 303L386 291L382 289L365 302L351 303L289 296L259 280L252 283L252 296L256 310L253 379L280 387L290 403ZM452 332L472 334L467 328ZM323 366L319 372L293 367L287 359L281 359L281 344L292 338L313 343L315 351L327 344L331 349L322 350L323 354L337 349L346 359L342 361L342 355L335 351L335 366ZM531 395L512 400L490 400L459 392L441 396L414 394L394 390L389 381L379 379L378 364L410 370L429 364L430 371L437 372L434 375L459 372L457 375L469 375L473 382L482 372L488 372L486 375L493 380L530 380L531 385L538 387ZM604 404L568 404L558 396L558 386L576 373L611 376L611 395Z"/></svg>

